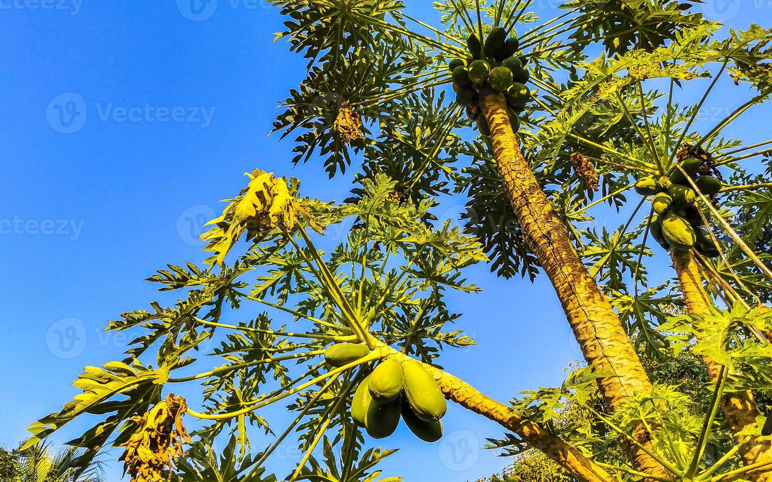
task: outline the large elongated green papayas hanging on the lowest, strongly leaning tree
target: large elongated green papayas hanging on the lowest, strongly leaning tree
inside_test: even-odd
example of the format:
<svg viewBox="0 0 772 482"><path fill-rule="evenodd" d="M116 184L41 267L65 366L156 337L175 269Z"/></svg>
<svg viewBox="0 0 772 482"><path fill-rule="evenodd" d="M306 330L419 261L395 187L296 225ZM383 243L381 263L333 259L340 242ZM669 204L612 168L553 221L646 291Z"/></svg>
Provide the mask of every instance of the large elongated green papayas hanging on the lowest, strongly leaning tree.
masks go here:
<svg viewBox="0 0 772 482"><path fill-rule="evenodd" d="M344 366L369 352L366 345L337 343L327 349L325 359ZM447 408L442 390L421 362L385 359L357 386L351 416L375 439L394 433L402 418L419 439L436 442L442 438L440 419Z"/></svg>

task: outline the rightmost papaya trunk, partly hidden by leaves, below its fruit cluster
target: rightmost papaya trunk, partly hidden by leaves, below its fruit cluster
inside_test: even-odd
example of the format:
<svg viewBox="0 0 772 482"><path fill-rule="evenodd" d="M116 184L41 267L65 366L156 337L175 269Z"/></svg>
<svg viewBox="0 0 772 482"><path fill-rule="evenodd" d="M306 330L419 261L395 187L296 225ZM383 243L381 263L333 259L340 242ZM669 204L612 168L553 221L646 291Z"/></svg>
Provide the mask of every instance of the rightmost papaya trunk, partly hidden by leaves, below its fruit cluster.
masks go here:
<svg viewBox="0 0 772 482"><path fill-rule="evenodd" d="M681 284L681 291L686 300L686 311L692 315L709 313L710 308L713 307L713 300L703 287L703 277L700 275L699 265L697 265L692 253L690 251L674 253L672 260L673 268L675 268ZM710 379L717 379L721 370L720 364L709 356L703 356L703 363ZM743 444L740 448L743 462L746 465L772 462L772 443L757 440L756 436L736 435L743 430L758 429L756 419L757 416L761 416L761 413L753 393L750 393L749 390L724 393L720 402L724 416L726 416L726 423L735 434L736 443ZM754 474L748 474L746 477L757 482L772 482L772 471L764 469Z"/></svg>

